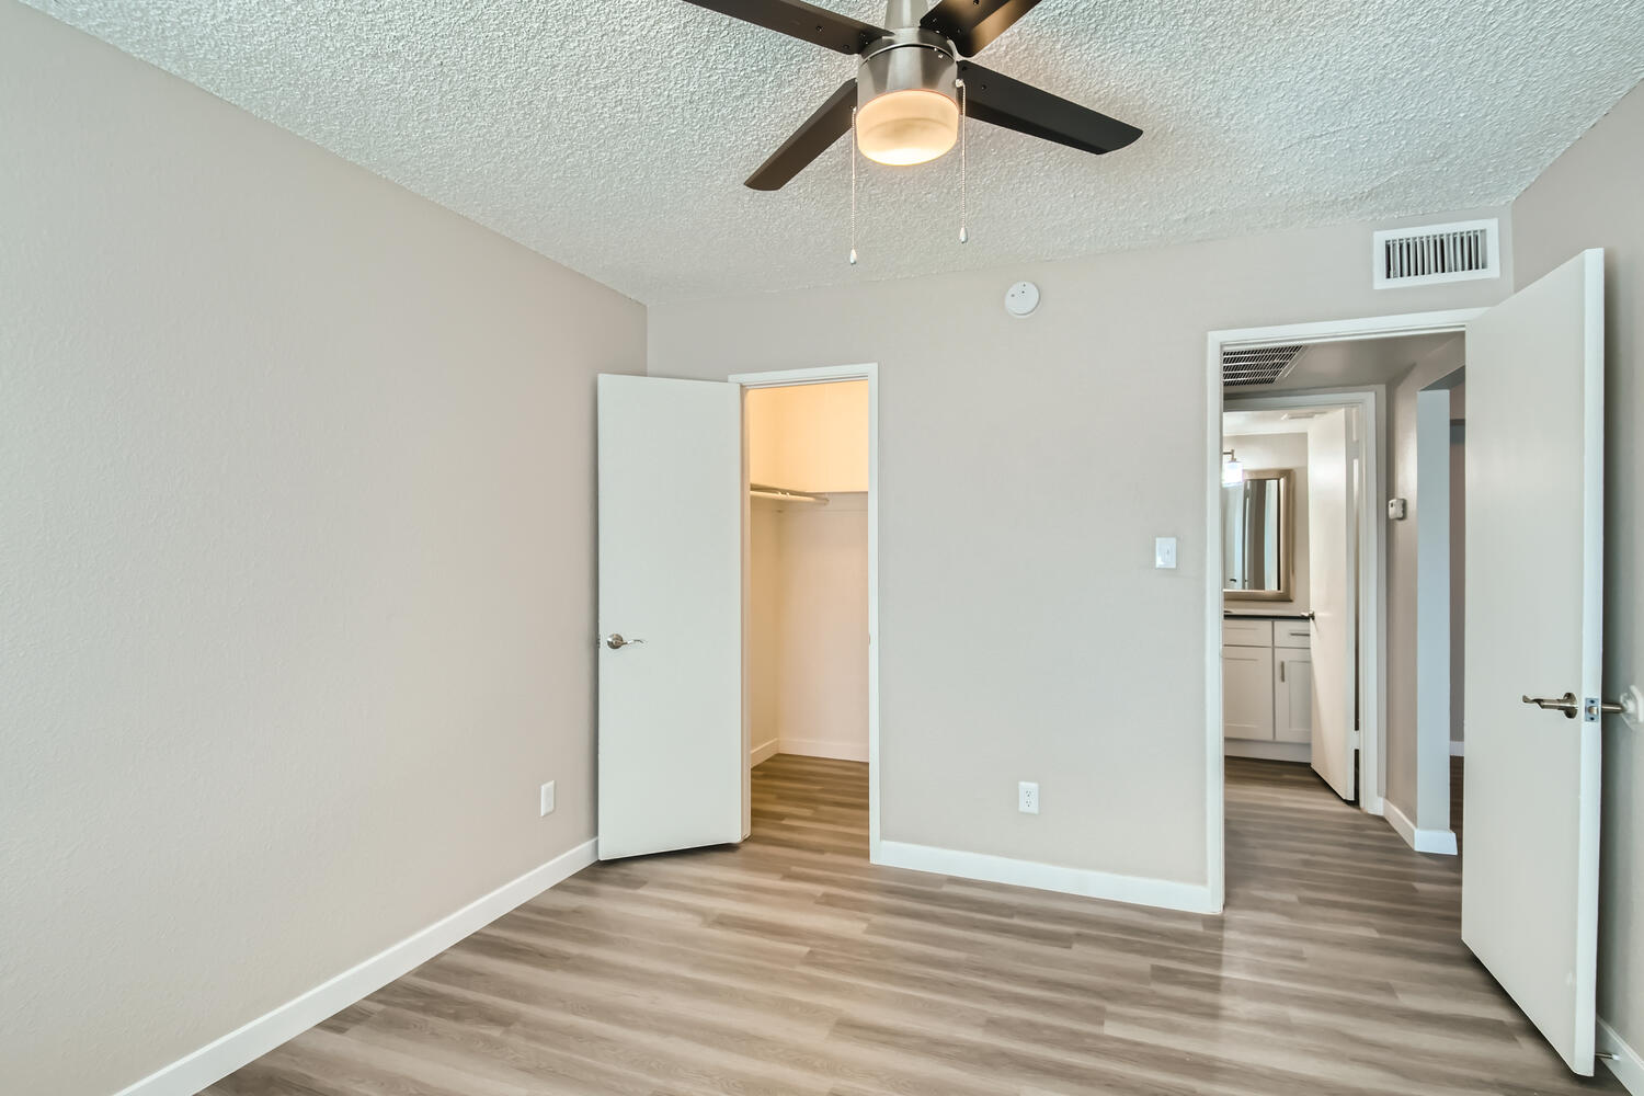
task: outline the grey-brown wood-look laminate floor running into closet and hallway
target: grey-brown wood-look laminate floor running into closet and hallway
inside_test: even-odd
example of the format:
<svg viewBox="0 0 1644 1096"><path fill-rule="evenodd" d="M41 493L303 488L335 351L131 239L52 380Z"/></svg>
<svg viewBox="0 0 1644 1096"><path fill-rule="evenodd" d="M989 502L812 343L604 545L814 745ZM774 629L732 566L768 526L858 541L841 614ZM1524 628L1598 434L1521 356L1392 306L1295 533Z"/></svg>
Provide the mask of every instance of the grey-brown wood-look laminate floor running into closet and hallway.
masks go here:
<svg viewBox="0 0 1644 1096"><path fill-rule="evenodd" d="M1529 1096L1453 858L1228 759L1225 917L875 868L866 767L778 756L740 848L597 864L212 1096Z"/></svg>

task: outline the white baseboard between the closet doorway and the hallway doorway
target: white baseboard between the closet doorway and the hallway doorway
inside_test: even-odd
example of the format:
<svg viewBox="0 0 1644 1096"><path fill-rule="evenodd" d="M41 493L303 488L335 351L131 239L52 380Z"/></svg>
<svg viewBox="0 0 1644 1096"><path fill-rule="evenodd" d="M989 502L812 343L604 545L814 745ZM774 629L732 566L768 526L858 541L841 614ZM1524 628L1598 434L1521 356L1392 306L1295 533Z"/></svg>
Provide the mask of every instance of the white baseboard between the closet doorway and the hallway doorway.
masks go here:
<svg viewBox="0 0 1644 1096"><path fill-rule="evenodd" d="M1190 914L1221 912L1220 904L1212 899L1210 887L1195 882L1115 876L1087 868L1062 868L1031 859L990 856L988 853L963 853L931 845L909 845L907 841L880 841L878 854L873 861L891 868L912 868L914 871L932 871L962 879L983 879L986 882L1008 882L1039 891L1082 894L1110 902L1157 905Z"/></svg>

